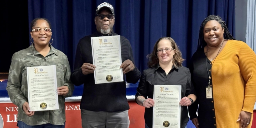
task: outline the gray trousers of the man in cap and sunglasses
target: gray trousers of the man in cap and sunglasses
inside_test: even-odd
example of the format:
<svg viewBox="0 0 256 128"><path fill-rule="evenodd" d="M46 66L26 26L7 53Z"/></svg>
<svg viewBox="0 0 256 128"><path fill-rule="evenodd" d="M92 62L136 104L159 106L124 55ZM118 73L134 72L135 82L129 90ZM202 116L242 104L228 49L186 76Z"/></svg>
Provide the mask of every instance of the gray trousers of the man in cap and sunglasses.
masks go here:
<svg viewBox="0 0 256 128"><path fill-rule="evenodd" d="M83 128L129 128L128 110L118 112L81 109Z"/></svg>

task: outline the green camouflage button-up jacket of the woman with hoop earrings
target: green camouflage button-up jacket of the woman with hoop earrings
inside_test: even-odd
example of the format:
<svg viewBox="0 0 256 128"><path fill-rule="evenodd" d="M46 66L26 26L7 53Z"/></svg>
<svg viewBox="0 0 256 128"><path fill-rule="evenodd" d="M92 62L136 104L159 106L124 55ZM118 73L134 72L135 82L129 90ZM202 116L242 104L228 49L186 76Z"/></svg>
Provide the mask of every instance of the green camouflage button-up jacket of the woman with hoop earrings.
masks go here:
<svg viewBox="0 0 256 128"><path fill-rule="evenodd" d="M70 82L70 66L67 56L61 51L55 49L52 45L50 52L43 57L30 45L27 49L14 53L11 59L9 77L6 90L13 104L19 107L18 121L27 125L41 125L51 123L54 125L64 125L65 117L65 97L72 96L74 85ZM35 114L28 117L22 105L28 102L28 84L27 84L27 67L31 66L49 66L56 65L57 85L68 86L69 93L64 96L58 96L59 109L35 111Z"/></svg>

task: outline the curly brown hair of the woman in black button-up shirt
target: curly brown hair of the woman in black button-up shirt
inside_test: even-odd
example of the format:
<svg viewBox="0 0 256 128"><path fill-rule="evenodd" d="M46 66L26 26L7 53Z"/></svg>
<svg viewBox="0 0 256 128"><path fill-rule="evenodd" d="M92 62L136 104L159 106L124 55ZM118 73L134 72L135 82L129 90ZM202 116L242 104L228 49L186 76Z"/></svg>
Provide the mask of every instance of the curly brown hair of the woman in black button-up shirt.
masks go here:
<svg viewBox="0 0 256 128"><path fill-rule="evenodd" d="M171 37L161 37L156 41L153 48L153 52L147 56L147 58L149 59L148 67L153 68L159 63L159 60L157 58L157 44L163 39L170 41L171 47L175 50L175 54L172 59L173 66L181 67L184 59L182 58L182 54L179 49L179 46L175 43L175 41Z"/></svg>

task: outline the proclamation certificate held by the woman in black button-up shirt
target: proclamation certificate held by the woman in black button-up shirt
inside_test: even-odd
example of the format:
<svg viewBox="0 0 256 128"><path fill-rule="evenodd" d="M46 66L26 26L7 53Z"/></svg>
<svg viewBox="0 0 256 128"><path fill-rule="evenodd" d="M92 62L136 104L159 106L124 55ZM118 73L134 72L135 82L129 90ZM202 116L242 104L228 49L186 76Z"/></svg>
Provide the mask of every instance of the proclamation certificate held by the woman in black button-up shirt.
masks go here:
<svg viewBox="0 0 256 128"><path fill-rule="evenodd" d="M181 85L154 85L153 128L180 128Z"/></svg>

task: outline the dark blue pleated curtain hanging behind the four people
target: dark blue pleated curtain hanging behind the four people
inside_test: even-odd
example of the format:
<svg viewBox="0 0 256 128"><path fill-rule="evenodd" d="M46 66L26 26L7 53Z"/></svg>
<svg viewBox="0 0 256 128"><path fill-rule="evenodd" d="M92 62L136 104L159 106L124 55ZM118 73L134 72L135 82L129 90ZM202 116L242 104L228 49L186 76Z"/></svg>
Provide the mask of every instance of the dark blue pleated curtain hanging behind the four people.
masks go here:
<svg viewBox="0 0 256 128"><path fill-rule="evenodd" d="M146 56L162 36L177 42L187 66L197 48L200 24L210 14L220 15L235 35L235 0L28 0L28 24L37 17L49 19L52 45L68 56L73 69L77 43L96 31L94 14L102 2L114 6L114 32L130 41L140 71L147 69Z"/></svg>

